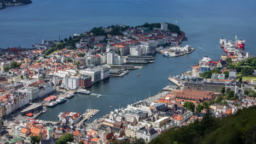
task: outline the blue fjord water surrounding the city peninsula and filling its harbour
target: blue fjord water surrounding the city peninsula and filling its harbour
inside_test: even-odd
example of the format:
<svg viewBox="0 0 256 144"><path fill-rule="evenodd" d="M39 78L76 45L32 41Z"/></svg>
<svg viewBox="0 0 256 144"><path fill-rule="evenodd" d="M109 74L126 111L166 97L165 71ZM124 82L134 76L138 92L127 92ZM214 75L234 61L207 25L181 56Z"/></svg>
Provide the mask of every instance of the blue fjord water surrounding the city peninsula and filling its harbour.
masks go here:
<svg viewBox="0 0 256 144"><path fill-rule="evenodd" d="M78 94L39 117L56 121L59 112L84 112L90 103L91 109L101 110L97 118L161 92L161 88L171 85L169 75L188 70L205 55L218 60L223 53L219 47L222 37L234 39L238 35L246 40L245 51L255 55L255 6L253 0L33 0L32 4L0 10L0 48L31 47L42 39L57 40L59 35L63 39L93 27L120 23L137 26L170 22L187 33L189 40L182 45L196 48L190 55L166 58L157 54L155 63L143 65L143 69L130 70L122 78L110 77L88 88L101 97Z"/></svg>

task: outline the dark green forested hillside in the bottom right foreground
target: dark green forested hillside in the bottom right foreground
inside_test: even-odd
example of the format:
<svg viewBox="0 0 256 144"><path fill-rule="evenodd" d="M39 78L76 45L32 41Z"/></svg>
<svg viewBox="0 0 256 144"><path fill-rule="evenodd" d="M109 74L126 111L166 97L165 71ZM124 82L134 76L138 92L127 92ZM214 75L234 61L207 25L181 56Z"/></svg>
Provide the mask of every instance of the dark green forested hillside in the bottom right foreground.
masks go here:
<svg viewBox="0 0 256 144"><path fill-rule="evenodd" d="M170 129L150 144L166 143L255 143L256 106L238 110L235 115L214 118L208 111L202 121Z"/></svg>

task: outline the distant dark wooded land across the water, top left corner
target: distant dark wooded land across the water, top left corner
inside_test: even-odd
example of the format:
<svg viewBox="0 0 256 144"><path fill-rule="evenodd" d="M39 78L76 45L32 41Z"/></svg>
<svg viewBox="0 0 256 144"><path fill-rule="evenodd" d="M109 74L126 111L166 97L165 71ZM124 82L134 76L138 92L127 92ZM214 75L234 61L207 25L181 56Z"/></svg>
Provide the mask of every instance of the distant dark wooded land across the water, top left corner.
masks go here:
<svg viewBox="0 0 256 144"><path fill-rule="evenodd" d="M0 0L0 10L9 6L31 4L31 0Z"/></svg>

